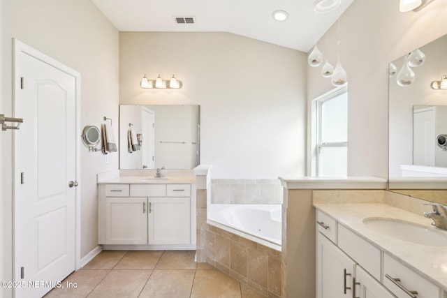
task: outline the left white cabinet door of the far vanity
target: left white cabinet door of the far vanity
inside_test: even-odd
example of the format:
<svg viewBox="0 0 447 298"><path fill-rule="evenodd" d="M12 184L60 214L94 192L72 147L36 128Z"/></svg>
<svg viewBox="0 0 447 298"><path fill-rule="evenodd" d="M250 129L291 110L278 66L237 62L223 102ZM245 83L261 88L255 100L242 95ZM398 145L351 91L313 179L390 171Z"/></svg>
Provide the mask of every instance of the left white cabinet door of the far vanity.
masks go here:
<svg viewBox="0 0 447 298"><path fill-rule="evenodd" d="M104 198L105 244L147 244L147 198Z"/></svg>

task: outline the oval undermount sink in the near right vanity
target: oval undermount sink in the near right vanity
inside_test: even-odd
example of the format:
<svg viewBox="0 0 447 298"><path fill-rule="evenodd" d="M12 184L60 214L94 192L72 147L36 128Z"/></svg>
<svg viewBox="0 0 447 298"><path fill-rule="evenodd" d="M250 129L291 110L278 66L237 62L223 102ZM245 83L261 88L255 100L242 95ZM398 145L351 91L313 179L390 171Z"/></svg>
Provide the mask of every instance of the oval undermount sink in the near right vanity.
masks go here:
<svg viewBox="0 0 447 298"><path fill-rule="evenodd" d="M365 218L363 223L375 232L402 241L426 246L447 246L447 234L428 229L416 223L376 217Z"/></svg>

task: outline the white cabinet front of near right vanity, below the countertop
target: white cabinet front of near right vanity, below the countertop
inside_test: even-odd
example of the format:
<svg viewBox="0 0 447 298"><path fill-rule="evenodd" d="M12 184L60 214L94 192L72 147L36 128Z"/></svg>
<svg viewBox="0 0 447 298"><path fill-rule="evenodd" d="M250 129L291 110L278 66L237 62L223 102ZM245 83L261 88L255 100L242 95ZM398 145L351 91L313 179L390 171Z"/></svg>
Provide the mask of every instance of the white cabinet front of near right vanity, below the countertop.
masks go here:
<svg viewBox="0 0 447 298"><path fill-rule="evenodd" d="M335 218L318 209L316 212L318 298L444 297L437 285L337 223Z"/></svg>

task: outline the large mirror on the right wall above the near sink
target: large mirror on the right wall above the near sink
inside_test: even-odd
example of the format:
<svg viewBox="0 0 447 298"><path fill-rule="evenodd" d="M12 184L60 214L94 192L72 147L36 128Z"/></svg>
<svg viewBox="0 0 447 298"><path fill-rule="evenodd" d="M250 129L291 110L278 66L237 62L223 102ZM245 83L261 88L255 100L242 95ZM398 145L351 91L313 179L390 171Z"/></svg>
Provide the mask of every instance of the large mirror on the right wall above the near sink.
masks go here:
<svg viewBox="0 0 447 298"><path fill-rule="evenodd" d="M389 188L444 204L447 151L439 135L447 135L447 89L434 87L447 75L446 49L442 36L391 62L388 74Z"/></svg>

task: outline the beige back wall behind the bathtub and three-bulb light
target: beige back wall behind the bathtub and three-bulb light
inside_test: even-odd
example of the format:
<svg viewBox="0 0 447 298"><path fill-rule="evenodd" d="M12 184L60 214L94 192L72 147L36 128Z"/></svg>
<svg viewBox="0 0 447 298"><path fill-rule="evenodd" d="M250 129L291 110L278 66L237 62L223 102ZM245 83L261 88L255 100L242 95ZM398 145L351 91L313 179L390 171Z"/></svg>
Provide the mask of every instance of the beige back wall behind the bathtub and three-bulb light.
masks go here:
<svg viewBox="0 0 447 298"><path fill-rule="evenodd" d="M119 102L200 105L200 163L213 178L305 174L305 53L232 33L119 36ZM182 89L139 87L173 73Z"/></svg>

